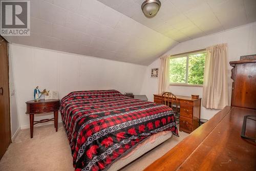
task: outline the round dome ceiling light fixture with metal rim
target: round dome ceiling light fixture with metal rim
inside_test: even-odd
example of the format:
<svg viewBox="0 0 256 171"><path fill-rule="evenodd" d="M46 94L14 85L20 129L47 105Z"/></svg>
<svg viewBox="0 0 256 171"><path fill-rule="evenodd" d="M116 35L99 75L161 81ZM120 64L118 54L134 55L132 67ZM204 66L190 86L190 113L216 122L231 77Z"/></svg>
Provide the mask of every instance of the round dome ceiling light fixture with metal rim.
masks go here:
<svg viewBox="0 0 256 171"><path fill-rule="evenodd" d="M141 5L141 9L146 17L153 17L157 14L161 7L161 2L159 0L146 0Z"/></svg>

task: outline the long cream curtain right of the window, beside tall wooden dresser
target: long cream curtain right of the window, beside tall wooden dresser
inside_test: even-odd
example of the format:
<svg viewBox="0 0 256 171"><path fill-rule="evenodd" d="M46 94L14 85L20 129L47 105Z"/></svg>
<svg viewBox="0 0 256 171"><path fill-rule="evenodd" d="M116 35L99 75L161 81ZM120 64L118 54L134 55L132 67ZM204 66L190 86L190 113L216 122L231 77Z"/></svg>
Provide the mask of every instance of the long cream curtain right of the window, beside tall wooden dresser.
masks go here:
<svg viewBox="0 0 256 171"><path fill-rule="evenodd" d="M228 105L227 44L206 48L203 106L223 109Z"/></svg>

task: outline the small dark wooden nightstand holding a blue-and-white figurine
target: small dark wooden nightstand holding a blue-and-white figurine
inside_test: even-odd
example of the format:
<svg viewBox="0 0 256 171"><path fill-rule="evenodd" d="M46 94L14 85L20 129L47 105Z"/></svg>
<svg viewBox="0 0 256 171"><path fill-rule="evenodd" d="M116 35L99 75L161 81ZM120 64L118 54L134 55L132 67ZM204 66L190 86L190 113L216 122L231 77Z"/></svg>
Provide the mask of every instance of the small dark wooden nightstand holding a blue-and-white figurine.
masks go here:
<svg viewBox="0 0 256 171"><path fill-rule="evenodd" d="M40 101L27 101L27 112L30 119L30 137L33 138L33 128L37 123L54 121L54 127L56 132L58 131L58 110L59 110L59 99L49 99L49 100L40 100ZM44 114L44 113L54 113L54 118L51 119L42 119L39 121L34 121L35 114Z"/></svg>

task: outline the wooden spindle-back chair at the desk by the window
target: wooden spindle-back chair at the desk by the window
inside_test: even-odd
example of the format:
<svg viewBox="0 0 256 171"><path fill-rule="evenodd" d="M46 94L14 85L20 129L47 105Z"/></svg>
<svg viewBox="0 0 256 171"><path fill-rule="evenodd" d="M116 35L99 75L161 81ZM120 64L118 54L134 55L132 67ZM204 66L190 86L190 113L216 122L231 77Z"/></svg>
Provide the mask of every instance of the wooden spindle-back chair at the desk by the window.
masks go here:
<svg viewBox="0 0 256 171"><path fill-rule="evenodd" d="M177 97L173 93L164 92L162 94L162 104L167 105L173 109L176 118L176 123L178 124L180 121L180 103Z"/></svg>

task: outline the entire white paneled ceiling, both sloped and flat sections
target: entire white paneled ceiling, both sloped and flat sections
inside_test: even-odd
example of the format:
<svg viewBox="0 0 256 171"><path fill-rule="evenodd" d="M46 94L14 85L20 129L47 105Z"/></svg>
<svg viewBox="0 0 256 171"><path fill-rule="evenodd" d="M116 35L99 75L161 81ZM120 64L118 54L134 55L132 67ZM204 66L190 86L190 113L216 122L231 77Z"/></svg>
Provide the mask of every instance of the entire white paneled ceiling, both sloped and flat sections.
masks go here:
<svg viewBox="0 0 256 171"><path fill-rule="evenodd" d="M5 38L148 65L178 42L256 21L255 0L160 1L160 11L148 19L143 0L32 0L31 36Z"/></svg>

